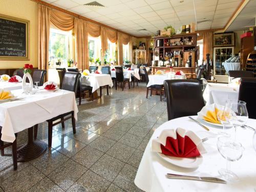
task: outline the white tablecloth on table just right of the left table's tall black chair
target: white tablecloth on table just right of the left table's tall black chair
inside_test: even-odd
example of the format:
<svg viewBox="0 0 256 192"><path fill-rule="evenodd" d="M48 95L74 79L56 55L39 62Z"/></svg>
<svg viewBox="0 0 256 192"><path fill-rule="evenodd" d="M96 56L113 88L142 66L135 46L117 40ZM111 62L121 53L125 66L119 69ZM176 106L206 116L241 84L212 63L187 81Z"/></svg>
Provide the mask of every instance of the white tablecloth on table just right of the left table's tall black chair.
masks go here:
<svg viewBox="0 0 256 192"><path fill-rule="evenodd" d="M93 88L92 92L95 92L101 86L113 87L111 76L108 74L82 75L81 83L85 84L86 86L91 86Z"/></svg>

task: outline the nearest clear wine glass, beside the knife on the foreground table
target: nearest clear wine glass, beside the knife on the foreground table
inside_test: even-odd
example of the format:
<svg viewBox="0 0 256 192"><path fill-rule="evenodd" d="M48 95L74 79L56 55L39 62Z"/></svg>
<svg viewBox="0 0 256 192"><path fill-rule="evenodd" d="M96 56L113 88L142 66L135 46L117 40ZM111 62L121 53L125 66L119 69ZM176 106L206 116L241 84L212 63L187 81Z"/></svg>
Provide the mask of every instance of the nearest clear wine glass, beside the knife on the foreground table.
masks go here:
<svg viewBox="0 0 256 192"><path fill-rule="evenodd" d="M241 159L245 150L244 147L241 143L234 141L230 137L219 137L217 147L222 157L227 160L226 168L220 169L219 174L227 181L238 181L238 176L231 172L229 164L231 161L238 161Z"/></svg>

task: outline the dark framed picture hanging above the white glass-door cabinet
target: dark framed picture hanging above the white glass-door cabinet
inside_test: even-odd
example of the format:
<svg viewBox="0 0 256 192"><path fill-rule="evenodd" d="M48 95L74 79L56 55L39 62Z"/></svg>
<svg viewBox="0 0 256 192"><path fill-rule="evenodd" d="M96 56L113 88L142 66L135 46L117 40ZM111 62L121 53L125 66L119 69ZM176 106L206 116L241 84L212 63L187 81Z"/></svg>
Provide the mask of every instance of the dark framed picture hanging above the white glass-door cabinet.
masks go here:
<svg viewBox="0 0 256 192"><path fill-rule="evenodd" d="M234 33L214 34L214 47L233 47Z"/></svg>

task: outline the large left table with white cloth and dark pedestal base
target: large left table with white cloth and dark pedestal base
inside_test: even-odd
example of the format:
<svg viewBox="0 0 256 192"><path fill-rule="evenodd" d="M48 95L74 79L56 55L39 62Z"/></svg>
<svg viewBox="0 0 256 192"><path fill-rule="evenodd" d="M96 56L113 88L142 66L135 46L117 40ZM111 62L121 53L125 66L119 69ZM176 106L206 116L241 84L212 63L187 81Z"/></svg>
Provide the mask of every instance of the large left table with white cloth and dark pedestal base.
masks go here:
<svg viewBox="0 0 256 192"><path fill-rule="evenodd" d="M33 140L33 126L71 111L74 111L77 120L74 92L60 89L48 91L39 87L35 94L23 94L22 89L11 93L17 100L0 102L1 140L13 142L16 133L28 129L28 142L17 150L19 162L35 159L48 147L45 142Z"/></svg>

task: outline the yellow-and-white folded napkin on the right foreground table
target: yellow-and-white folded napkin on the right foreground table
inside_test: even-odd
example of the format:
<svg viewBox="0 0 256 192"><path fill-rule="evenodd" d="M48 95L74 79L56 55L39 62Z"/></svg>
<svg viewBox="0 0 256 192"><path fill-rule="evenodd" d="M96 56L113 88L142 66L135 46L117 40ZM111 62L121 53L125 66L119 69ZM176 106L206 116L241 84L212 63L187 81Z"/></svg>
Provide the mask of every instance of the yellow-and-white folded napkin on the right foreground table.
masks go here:
<svg viewBox="0 0 256 192"><path fill-rule="evenodd" d="M197 113L198 118L212 122L212 123L220 123L217 118L217 113L223 109L224 106L218 104L210 104L206 105L202 108L200 112Z"/></svg>

